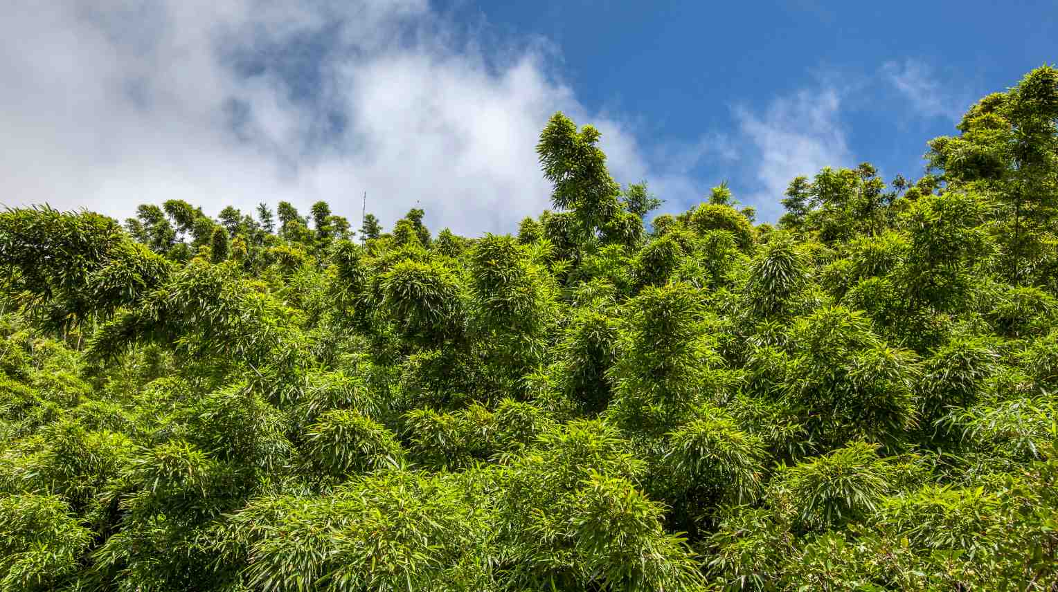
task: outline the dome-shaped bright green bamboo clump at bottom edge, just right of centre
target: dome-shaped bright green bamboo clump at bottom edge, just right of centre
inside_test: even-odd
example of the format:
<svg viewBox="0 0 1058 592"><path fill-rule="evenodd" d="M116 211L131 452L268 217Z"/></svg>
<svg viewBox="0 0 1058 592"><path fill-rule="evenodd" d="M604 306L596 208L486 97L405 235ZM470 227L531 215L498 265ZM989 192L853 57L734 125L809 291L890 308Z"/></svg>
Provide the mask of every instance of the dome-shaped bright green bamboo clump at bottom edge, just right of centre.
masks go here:
<svg viewBox="0 0 1058 592"><path fill-rule="evenodd" d="M515 584L693 589L688 551L636 487L643 465L628 449L606 424L577 421L544 432L511 465L497 516Z"/></svg>

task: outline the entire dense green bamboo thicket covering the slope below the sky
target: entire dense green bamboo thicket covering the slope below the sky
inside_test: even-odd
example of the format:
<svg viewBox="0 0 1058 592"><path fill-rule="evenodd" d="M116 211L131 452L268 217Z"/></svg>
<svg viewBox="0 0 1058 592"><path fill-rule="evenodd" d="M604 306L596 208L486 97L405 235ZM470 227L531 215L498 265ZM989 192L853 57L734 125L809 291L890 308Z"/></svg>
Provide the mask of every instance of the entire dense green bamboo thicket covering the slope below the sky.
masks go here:
<svg viewBox="0 0 1058 592"><path fill-rule="evenodd" d="M562 114L516 236L7 209L0 590L1058 590L1056 124L773 225Z"/></svg>

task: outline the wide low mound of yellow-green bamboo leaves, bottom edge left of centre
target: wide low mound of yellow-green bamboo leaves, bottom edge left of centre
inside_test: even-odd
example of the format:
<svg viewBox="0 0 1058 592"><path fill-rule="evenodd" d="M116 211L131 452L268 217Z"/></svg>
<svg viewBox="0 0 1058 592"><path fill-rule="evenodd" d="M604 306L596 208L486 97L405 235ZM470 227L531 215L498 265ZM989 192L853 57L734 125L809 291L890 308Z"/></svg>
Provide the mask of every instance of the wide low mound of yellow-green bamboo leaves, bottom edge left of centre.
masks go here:
<svg viewBox="0 0 1058 592"><path fill-rule="evenodd" d="M471 479L381 474L330 498L253 500L221 549L243 548L247 584L269 591L481 589L488 516Z"/></svg>

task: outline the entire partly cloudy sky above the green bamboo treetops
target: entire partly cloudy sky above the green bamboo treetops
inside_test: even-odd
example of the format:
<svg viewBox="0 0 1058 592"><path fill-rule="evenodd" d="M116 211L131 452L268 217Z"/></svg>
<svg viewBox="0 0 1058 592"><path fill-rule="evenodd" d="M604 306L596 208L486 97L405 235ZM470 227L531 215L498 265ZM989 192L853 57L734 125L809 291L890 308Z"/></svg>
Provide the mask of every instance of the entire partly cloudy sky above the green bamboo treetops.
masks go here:
<svg viewBox="0 0 1058 592"><path fill-rule="evenodd" d="M0 204L123 219L327 201L464 235L549 207L555 111L661 211L728 181L771 221L823 166L926 142L1058 59L1058 1L7 0Z"/></svg>

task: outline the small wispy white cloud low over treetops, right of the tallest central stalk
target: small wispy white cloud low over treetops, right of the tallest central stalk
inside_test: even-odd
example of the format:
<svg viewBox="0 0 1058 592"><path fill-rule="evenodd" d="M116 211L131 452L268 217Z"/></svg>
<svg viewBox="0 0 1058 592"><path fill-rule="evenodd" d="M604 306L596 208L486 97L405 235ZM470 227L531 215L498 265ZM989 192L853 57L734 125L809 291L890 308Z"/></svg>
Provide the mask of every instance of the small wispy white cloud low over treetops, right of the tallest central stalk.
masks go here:
<svg viewBox="0 0 1058 592"><path fill-rule="evenodd" d="M763 113L735 109L740 130L753 153L744 166L756 181L756 190L745 201L758 207L762 220L779 217L779 201L795 177L811 177L824 166L854 164L840 108L839 90L824 87L777 98Z"/></svg>

